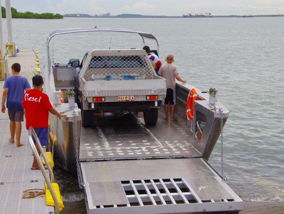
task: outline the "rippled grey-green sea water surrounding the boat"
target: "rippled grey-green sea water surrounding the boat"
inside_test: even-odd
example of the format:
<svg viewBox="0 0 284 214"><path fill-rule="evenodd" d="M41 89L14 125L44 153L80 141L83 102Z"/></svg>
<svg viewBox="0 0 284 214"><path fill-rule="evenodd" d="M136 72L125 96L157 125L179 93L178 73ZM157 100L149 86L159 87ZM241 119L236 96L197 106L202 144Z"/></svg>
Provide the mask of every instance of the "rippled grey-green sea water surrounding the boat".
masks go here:
<svg viewBox="0 0 284 214"><path fill-rule="evenodd" d="M5 19L2 25L6 43ZM188 84L202 91L217 88L218 100L230 110L223 140L227 184L244 201L284 202L284 17L13 19L13 41L20 50L38 50L41 71L48 72L48 34L94 26L153 33L163 63L173 54ZM117 40L116 35L87 34L54 38L51 59L67 63L81 60L92 48L131 48L142 42ZM219 172L220 144L218 140L209 159ZM67 206L85 213L77 175L59 168L55 174Z"/></svg>

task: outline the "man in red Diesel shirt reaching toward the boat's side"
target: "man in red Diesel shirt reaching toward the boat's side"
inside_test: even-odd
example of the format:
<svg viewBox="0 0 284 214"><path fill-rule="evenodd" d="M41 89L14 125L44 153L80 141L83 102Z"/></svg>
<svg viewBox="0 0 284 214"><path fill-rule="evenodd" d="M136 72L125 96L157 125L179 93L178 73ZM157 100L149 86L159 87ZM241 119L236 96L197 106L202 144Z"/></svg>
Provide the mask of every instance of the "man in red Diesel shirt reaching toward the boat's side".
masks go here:
<svg viewBox="0 0 284 214"><path fill-rule="evenodd" d="M27 91L23 97L22 106L25 110L26 128L32 126L39 139L41 146L48 145L48 115L49 112L61 118L67 116L59 113L50 103L47 94L42 92L43 79L39 75L32 77L33 89ZM34 142L35 139L33 138ZM40 155L40 150L35 144L36 150ZM33 157L32 170L39 169L39 165Z"/></svg>

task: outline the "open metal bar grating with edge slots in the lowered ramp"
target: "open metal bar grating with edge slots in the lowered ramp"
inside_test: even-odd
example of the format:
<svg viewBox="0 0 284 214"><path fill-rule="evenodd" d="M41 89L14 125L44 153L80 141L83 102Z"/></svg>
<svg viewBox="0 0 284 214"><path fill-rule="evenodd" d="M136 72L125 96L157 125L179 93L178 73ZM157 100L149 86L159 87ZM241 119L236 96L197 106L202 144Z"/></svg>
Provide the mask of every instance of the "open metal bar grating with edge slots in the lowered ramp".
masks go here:
<svg viewBox="0 0 284 214"><path fill-rule="evenodd" d="M122 181L121 185L129 203L97 205L96 208L234 202L231 197L220 200L201 200L193 188L182 178L130 180Z"/></svg>

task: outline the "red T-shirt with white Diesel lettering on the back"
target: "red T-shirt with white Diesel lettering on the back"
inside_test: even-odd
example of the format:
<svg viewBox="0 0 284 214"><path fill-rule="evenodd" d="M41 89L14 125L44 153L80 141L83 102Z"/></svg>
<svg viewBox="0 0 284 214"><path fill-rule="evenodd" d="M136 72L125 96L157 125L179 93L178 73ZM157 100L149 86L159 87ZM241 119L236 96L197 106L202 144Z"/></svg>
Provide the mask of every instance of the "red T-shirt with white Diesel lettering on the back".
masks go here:
<svg viewBox="0 0 284 214"><path fill-rule="evenodd" d="M53 106L47 94L31 89L24 93L22 106L26 112L26 127L48 127L48 112Z"/></svg>

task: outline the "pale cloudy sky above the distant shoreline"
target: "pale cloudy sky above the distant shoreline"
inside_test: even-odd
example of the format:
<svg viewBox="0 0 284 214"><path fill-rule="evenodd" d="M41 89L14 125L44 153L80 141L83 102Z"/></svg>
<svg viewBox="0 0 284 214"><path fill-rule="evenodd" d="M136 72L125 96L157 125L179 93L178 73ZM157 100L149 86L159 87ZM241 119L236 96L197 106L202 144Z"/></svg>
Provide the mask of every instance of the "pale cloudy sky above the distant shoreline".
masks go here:
<svg viewBox="0 0 284 214"><path fill-rule="evenodd" d="M5 6L6 0L0 0ZM185 13L214 15L284 14L284 0L10 0L18 12L181 16Z"/></svg>

